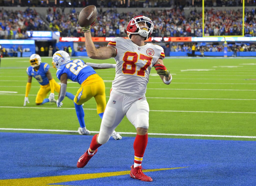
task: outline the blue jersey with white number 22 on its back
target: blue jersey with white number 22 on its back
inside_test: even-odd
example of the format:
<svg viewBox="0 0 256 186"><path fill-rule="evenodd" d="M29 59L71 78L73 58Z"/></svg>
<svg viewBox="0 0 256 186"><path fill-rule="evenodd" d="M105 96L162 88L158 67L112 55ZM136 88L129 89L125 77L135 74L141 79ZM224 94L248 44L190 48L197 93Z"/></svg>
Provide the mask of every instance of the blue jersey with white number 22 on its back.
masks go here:
<svg viewBox="0 0 256 186"><path fill-rule="evenodd" d="M86 65L81 59L74 59L64 65L61 65L56 72L57 78L59 80L63 73L68 75L68 79L74 82L78 82L80 85L89 76L96 74L94 69L91 66Z"/></svg>

